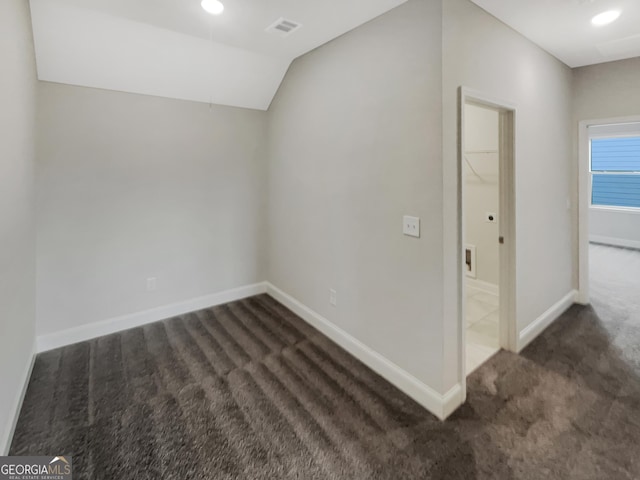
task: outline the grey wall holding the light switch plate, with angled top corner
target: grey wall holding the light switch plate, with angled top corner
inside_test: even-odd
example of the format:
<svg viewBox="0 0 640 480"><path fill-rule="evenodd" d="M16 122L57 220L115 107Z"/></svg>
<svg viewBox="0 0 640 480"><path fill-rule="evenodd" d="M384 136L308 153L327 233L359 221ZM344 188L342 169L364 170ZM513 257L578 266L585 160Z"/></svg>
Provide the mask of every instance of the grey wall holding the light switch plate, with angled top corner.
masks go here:
<svg viewBox="0 0 640 480"><path fill-rule="evenodd" d="M443 393L440 3L292 64L269 111L268 277Z"/></svg>

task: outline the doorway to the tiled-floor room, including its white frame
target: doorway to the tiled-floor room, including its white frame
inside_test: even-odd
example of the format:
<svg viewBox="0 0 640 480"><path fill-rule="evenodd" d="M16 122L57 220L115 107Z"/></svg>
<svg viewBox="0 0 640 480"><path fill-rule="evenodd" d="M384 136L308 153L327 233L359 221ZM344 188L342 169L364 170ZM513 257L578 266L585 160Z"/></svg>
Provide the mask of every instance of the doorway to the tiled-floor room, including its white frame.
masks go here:
<svg viewBox="0 0 640 480"><path fill-rule="evenodd" d="M515 107L460 89L461 378L516 351ZM466 382L464 395L466 396Z"/></svg>

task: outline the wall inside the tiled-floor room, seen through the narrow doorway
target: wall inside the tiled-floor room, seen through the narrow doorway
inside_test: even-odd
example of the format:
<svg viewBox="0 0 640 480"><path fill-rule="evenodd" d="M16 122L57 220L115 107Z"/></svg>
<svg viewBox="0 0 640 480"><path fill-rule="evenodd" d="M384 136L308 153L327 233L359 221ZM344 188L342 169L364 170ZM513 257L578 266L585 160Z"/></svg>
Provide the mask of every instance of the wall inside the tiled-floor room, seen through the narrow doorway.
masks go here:
<svg viewBox="0 0 640 480"><path fill-rule="evenodd" d="M476 247L475 279L498 288L499 167L498 112L465 105L465 156L463 162L465 244ZM473 169L471 168L473 167ZM486 221L494 213L497 221Z"/></svg>

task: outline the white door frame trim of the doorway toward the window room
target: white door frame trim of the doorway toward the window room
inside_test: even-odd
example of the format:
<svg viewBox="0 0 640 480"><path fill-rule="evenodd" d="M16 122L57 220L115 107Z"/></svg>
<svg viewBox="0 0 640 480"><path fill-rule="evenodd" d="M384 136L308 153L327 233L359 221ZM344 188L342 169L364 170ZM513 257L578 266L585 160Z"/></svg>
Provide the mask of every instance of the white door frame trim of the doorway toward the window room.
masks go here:
<svg viewBox="0 0 640 480"><path fill-rule="evenodd" d="M589 127L638 123L640 115L582 120L578 124L578 294L576 302L588 305L589 298Z"/></svg>

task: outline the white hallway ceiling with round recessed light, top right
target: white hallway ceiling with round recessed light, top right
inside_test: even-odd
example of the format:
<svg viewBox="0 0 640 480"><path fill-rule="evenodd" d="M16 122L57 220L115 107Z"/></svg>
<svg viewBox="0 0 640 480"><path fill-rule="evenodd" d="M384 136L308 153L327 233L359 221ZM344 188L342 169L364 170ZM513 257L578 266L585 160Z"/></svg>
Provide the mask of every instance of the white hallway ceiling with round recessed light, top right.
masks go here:
<svg viewBox="0 0 640 480"><path fill-rule="evenodd" d="M640 56L640 0L472 0L570 67ZM612 24L591 18L621 10Z"/></svg>

